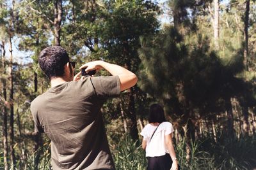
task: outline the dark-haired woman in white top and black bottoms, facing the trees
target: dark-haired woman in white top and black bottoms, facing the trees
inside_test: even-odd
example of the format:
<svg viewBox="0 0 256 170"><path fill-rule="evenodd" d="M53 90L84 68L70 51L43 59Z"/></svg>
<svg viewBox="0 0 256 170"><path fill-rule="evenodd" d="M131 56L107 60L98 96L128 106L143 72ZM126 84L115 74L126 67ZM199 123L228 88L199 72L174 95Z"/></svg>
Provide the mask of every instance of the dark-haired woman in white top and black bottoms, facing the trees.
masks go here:
<svg viewBox="0 0 256 170"><path fill-rule="evenodd" d="M172 143L173 126L166 122L164 110L159 104L150 106L148 122L141 131L142 148L148 157L147 170L179 169Z"/></svg>

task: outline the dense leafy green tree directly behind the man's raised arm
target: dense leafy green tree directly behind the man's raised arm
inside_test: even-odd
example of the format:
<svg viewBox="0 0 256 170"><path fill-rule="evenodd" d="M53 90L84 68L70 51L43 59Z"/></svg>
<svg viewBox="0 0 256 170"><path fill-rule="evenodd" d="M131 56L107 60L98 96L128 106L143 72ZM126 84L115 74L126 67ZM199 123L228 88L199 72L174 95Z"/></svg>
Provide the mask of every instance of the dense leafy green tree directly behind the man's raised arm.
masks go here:
<svg viewBox="0 0 256 170"><path fill-rule="evenodd" d="M108 52L104 59L111 60L136 73L140 59L137 49L140 36L150 36L158 27L155 15L157 5L150 1L106 1L104 29L99 36L100 45ZM137 89L139 90L139 89ZM127 90L122 101L129 120L132 139L138 139L135 108L135 88Z"/></svg>

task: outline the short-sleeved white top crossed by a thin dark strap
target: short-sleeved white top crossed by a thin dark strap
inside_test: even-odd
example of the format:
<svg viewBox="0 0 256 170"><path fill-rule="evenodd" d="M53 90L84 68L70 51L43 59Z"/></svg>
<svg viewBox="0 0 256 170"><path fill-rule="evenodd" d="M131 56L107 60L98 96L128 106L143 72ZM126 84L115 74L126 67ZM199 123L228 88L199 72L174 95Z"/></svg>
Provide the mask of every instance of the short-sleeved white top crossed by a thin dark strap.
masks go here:
<svg viewBox="0 0 256 170"><path fill-rule="evenodd" d="M147 141L146 157L159 157L165 155L165 153L169 153L164 143L164 136L174 132L173 126L170 122L163 122L157 130L156 127L147 124L140 133L143 136L143 140ZM150 141L155 130L156 132Z"/></svg>

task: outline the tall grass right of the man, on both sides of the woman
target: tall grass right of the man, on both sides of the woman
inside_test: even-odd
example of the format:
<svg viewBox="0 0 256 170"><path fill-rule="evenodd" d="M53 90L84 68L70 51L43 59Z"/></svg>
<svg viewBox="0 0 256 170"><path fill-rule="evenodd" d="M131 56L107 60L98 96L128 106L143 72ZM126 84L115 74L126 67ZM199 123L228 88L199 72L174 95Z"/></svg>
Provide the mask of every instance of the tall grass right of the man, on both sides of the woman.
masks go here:
<svg viewBox="0 0 256 170"><path fill-rule="evenodd" d="M256 169L256 140L253 137L219 139L215 143L214 139L206 136L191 142L189 148L190 159L187 161L185 139L175 145L181 169ZM138 141L132 142L129 136L120 137L118 145L111 150L116 169L147 169L145 151L138 146Z"/></svg>

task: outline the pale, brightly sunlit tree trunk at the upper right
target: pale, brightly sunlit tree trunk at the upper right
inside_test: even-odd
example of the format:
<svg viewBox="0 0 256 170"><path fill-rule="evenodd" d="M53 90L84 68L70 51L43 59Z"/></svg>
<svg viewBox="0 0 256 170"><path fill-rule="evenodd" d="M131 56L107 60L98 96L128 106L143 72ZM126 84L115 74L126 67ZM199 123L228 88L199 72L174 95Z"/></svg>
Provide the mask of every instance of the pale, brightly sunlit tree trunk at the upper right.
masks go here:
<svg viewBox="0 0 256 170"><path fill-rule="evenodd" d="M214 31L214 45L216 49L219 49L219 20L220 20L220 0L214 0L214 23L213 23L213 31Z"/></svg>

